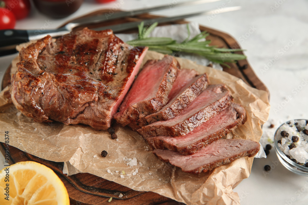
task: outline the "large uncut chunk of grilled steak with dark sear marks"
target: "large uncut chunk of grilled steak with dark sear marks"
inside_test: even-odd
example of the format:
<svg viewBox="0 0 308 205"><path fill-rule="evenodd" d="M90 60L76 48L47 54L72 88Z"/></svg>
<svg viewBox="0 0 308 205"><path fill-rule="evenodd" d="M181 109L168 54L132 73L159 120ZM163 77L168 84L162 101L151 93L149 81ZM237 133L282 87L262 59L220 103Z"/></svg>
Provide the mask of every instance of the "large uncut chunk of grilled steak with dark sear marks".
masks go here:
<svg viewBox="0 0 308 205"><path fill-rule="evenodd" d="M85 28L55 42L44 37L20 51L12 101L37 122L107 129L146 50L124 43L112 30Z"/></svg>

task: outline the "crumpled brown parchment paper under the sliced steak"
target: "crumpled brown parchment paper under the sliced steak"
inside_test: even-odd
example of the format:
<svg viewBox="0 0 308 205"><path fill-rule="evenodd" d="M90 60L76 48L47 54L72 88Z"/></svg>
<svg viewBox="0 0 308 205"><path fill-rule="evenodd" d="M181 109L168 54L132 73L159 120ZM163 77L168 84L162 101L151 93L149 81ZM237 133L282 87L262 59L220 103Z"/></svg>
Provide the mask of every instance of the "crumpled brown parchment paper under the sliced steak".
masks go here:
<svg viewBox="0 0 308 205"><path fill-rule="evenodd" d="M162 57L160 53L148 51L144 62ZM261 124L268 119L270 110L265 91L251 88L226 72L182 58L177 60L182 68L208 73L211 84L226 84L234 101L244 106L247 122L227 138L260 140ZM158 160L143 138L129 128L114 124L117 141L112 140L107 131L95 131L87 125L37 123L9 104L7 92L8 88L0 93L0 124L2 130L9 131L11 146L46 160L66 162L64 171L68 173L88 172L137 191L153 191L186 204L240 203L232 187L249 176L253 158L241 158L200 175L184 173ZM108 152L105 158L100 156L103 150ZM133 164L130 159L134 157L137 165L127 165Z"/></svg>

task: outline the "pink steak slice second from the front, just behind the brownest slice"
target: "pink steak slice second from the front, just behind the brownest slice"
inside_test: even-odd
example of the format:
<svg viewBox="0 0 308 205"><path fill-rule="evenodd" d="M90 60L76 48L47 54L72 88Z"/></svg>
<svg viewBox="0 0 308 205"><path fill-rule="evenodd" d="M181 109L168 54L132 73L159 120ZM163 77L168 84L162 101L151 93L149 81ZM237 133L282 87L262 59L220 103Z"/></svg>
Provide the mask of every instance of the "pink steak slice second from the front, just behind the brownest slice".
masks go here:
<svg viewBox="0 0 308 205"><path fill-rule="evenodd" d="M146 140L153 149L170 149L182 155L192 155L241 126L246 119L245 109L240 104L231 103L228 108L185 136L154 136Z"/></svg>

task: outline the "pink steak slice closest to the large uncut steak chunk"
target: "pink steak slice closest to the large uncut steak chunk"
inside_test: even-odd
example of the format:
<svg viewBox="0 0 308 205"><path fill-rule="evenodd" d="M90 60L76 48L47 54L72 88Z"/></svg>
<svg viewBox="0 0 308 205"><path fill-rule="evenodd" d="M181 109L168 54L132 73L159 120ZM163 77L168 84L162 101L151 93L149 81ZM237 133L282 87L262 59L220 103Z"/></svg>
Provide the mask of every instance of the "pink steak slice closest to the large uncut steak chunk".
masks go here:
<svg viewBox="0 0 308 205"><path fill-rule="evenodd" d="M140 128L137 120L160 110L168 102L168 95L179 71L179 64L172 56L162 60L149 60L138 74L115 120L133 130Z"/></svg>

